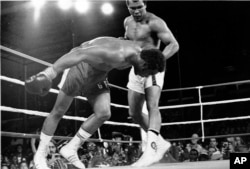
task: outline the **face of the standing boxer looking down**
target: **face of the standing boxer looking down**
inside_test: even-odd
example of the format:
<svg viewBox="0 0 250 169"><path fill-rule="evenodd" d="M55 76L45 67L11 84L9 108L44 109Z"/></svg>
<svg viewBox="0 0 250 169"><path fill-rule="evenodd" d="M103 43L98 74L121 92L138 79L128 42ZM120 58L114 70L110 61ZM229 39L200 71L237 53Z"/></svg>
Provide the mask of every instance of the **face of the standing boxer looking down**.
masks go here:
<svg viewBox="0 0 250 169"><path fill-rule="evenodd" d="M146 14L146 5L144 4L143 0L129 0L128 10L133 16L134 20L139 22Z"/></svg>

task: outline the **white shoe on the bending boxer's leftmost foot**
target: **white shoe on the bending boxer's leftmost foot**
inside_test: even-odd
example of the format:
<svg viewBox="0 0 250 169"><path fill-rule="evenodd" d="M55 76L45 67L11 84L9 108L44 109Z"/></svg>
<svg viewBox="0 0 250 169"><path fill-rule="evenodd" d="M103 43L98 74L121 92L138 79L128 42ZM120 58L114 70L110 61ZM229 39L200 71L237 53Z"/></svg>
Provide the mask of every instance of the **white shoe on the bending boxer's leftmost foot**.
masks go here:
<svg viewBox="0 0 250 169"><path fill-rule="evenodd" d="M36 169L50 169L47 165L46 152L37 151L34 156L34 165Z"/></svg>

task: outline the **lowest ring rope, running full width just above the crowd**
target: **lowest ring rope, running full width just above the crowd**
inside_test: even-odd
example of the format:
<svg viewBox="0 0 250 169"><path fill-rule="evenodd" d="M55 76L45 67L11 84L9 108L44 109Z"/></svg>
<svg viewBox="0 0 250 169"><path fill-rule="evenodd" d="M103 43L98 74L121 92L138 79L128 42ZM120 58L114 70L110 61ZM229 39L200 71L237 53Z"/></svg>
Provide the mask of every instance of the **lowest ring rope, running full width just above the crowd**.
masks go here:
<svg viewBox="0 0 250 169"><path fill-rule="evenodd" d="M39 139L40 135L38 134L26 134L26 133L15 133L15 132L7 132L7 131L1 131L1 136L4 137L19 137L19 138L37 138ZM250 133L238 133L238 134L227 134L227 135L216 135L216 136L206 136L206 139L210 138L227 138L227 137L237 137L237 136L250 136ZM70 140L72 137L68 136L53 136L53 139L55 140ZM202 137L198 137L198 139L201 139ZM185 141L185 140L192 140L192 138L176 138L176 139L166 139L168 141ZM141 143L142 141L125 141L125 140L109 140L109 139L94 139L89 138L86 141L93 141L93 142L117 142L117 143Z"/></svg>

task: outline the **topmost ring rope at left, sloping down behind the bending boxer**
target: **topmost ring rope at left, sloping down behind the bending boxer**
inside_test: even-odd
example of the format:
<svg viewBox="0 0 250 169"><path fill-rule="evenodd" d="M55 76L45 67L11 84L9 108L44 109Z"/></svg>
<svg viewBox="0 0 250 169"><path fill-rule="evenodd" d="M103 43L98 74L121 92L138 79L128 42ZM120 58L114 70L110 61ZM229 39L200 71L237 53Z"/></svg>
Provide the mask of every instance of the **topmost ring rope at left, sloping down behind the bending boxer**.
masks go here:
<svg viewBox="0 0 250 169"><path fill-rule="evenodd" d="M24 54L24 53L15 51L15 50L13 50L13 49L7 48L7 47L2 46L2 45L0 45L0 47L1 47L1 50L4 50L4 51L6 51L6 52L10 52L10 53L12 53L12 54L15 54L15 55L17 55L17 56L23 57L23 58L25 58L25 59L32 60L32 61L34 61L34 62L40 63L40 64L45 65L45 66L52 66L52 64L49 63L49 62L46 62L46 61L43 61L43 60L34 58L34 57L32 57L32 56L29 56L29 55L26 55L26 54ZM113 85L113 84L111 84L111 83L110 83L109 85L110 85L111 87L114 87L114 88L118 88L118 89L127 91L126 88L119 87L119 86Z"/></svg>

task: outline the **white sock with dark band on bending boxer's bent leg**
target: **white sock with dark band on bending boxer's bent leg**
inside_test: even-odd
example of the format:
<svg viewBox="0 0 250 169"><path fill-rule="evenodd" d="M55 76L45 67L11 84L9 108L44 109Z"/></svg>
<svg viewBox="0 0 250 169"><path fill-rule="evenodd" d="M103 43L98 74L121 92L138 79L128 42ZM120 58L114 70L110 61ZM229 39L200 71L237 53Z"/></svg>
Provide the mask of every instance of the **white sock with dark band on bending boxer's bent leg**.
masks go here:
<svg viewBox="0 0 250 169"><path fill-rule="evenodd" d="M70 142L67 145L74 150L78 150L78 148L81 147L84 141L88 139L90 136L91 136L90 133L80 128L76 133L76 135L70 140Z"/></svg>

